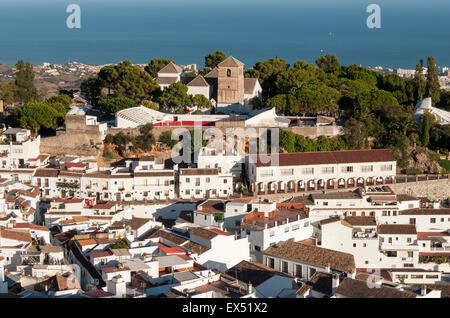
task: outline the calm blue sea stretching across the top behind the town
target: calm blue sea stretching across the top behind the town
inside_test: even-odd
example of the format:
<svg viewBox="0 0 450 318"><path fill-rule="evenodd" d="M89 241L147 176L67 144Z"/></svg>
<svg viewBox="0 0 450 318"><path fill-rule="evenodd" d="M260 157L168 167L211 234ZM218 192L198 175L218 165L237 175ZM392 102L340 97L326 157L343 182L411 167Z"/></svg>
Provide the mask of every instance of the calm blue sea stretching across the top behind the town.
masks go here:
<svg viewBox="0 0 450 318"><path fill-rule="evenodd" d="M69 4L81 28L69 29ZM369 29L366 8L381 8ZM0 0L0 63L107 64L152 58L203 66L223 50L247 67L278 56L414 68L433 55L450 66L449 0Z"/></svg>

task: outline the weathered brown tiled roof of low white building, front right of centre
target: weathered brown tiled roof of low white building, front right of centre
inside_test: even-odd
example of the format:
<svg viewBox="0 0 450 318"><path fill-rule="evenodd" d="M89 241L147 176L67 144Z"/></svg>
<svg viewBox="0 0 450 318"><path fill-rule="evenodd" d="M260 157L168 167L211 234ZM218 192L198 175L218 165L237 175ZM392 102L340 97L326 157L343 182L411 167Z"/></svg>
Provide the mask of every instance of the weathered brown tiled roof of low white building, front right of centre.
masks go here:
<svg viewBox="0 0 450 318"><path fill-rule="evenodd" d="M264 254L321 267L330 265L332 269L347 273L355 269L355 259L352 254L292 241L286 241L278 247L271 246L264 251Z"/></svg>

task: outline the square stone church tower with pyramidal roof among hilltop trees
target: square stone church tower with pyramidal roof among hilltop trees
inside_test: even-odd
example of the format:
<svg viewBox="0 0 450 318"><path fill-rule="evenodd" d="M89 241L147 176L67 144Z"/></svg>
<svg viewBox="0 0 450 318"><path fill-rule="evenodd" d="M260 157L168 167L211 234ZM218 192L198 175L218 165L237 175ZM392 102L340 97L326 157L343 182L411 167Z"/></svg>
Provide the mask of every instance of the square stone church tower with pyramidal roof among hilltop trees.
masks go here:
<svg viewBox="0 0 450 318"><path fill-rule="evenodd" d="M244 104L244 63L230 56L217 69L217 104Z"/></svg>

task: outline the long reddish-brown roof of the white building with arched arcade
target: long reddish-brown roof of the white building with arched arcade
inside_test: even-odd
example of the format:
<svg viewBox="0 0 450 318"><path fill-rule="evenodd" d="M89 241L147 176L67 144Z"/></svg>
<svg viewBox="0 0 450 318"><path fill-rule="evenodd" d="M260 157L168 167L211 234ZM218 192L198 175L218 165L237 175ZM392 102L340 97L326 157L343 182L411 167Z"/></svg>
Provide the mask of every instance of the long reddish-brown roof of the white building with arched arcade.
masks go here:
<svg viewBox="0 0 450 318"><path fill-rule="evenodd" d="M389 150L345 150L345 151L319 151L280 153L278 166L300 166L320 164L345 164L361 162L396 161ZM261 162L258 157L257 167L272 166L272 162Z"/></svg>

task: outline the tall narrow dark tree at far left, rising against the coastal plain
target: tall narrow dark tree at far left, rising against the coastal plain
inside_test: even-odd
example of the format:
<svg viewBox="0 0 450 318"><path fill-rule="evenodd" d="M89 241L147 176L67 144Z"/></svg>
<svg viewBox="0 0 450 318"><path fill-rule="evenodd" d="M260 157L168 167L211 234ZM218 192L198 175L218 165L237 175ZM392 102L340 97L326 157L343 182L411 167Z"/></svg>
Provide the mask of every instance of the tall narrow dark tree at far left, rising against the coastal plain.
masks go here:
<svg viewBox="0 0 450 318"><path fill-rule="evenodd" d="M34 86L33 65L29 62L25 63L23 60L19 60L16 64L15 76L15 84L17 86L16 97L24 103L38 101L40 96L36 86Z"/></svg>

